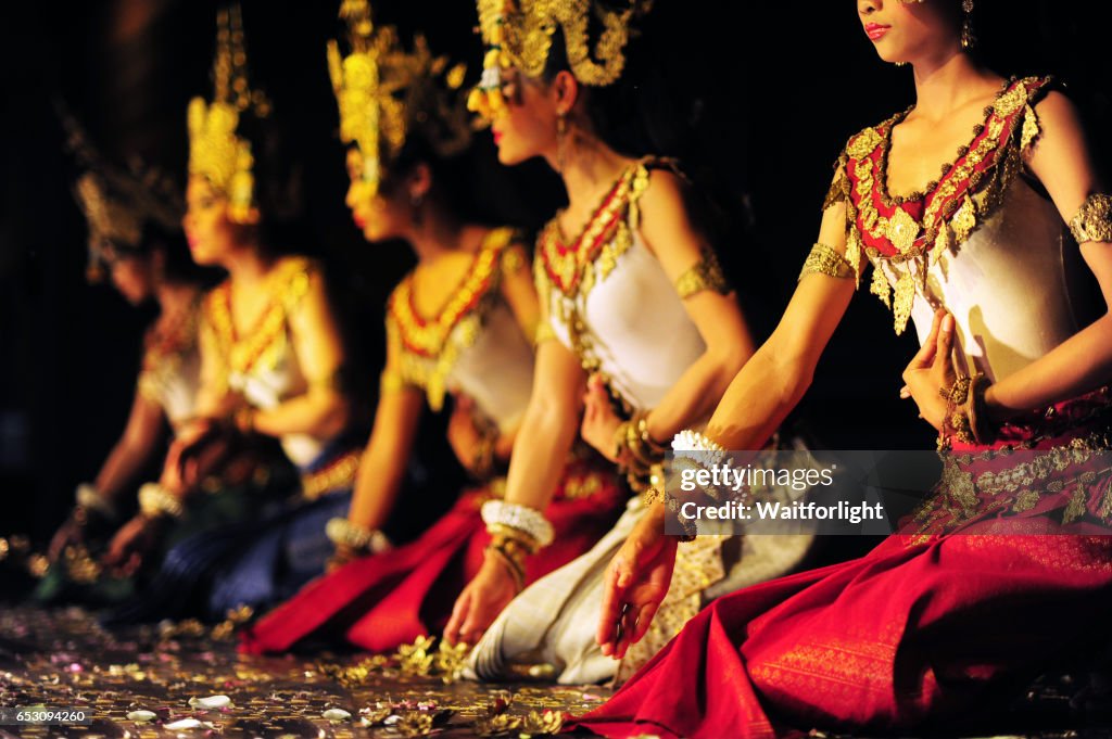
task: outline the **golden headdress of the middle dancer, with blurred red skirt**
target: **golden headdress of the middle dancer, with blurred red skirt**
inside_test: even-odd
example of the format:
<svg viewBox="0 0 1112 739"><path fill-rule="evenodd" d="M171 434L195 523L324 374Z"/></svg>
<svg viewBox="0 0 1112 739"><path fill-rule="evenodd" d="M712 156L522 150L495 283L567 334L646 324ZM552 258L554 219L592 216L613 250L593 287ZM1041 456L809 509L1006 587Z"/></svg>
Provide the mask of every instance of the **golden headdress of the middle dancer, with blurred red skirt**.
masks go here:
<svg viewBox="0 0 1112 739"><path fill-rule="evenodd" d="M419 34L407 52L397 29L371 23L367 0L344 0L340 18L347 21L351 52L341 57L330 41L328 71L339 106L340 140L359 148L371 193L417 129L440 156L463 150L471 134L457 92L464 66L448 69L447 57L434 57Z"/></svg>

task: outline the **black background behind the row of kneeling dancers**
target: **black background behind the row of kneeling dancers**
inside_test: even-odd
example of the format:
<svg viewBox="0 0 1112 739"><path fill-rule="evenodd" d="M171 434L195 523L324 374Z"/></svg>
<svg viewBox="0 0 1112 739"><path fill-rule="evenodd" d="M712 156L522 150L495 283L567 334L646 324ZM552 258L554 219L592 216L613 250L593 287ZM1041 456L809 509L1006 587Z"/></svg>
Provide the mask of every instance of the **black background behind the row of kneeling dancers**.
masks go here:
<svg viewBox="0 0 1112 739"><path fill-rule="evenodd" d="M1060 3L1061 4L1061 3ZM977 0L989 61L1004 73L1053 71L1088 113L1108 110L1102 26L1084 6ZM53 100L63 99L108 157L141 157L185 179L185 109L210 94L217 3L115 0L9 3L0 19L0 535L42 538L89 480L127 417L149 310L85 281L85 222ZM361 348L368 387L381 359L381 310L413 263L404 246L367 244L344 206L325 43L340 31L334 2L244 3L252 83L289 128L305 168L302 251L330 267ZM1079 8L1081 10L1079 11ZM434 51L467 61L481 47L466 0L379 0L376 20L418 28ZM832 166L845 140L913 98L911 71L880 61L853 3L657 0L645 23L666 54L657 100L691 126L685 164L717 181L733 228L719 242L747 314L763 337L786 302L817 231ZM489 137L473 154L483 216L536 228L562 202L539 162L505 170ZM797 413L841 449L929 448L933 432L897 400L913 331L896 338L874 298L854 301ZM667 340L662 337L662 350Z"/></svg>

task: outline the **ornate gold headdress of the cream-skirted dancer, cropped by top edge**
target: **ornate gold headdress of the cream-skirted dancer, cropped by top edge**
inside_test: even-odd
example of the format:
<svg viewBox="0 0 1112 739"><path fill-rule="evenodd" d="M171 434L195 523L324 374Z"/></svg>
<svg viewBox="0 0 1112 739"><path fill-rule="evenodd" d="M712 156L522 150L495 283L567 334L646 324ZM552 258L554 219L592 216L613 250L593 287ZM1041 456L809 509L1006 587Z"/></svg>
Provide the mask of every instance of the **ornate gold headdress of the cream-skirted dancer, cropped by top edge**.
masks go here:
<svg viewBox="0 0 1112 739"><path fill-rule="evenodd" d="M483 79L467 107L486 119L506 106L502 94L503 70L516 68L527 77L545 71L553 34L560 29L572 73L580 84L613 84L625 69L625 47L634 14L646 12L652 0L629 0L622 10L609 10L598 0L477 0L479 32L489 47L483 60ZM602 28L590 48L590 21Z"/></svg>

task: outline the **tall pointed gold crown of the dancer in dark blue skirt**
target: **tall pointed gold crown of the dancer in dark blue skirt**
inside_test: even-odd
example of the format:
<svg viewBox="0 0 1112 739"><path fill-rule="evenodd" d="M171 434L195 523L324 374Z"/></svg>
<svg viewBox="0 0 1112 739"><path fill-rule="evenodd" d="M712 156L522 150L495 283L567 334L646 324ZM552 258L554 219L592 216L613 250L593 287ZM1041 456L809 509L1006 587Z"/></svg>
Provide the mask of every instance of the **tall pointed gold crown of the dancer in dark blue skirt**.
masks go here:
<svg viewBox="0 0 1112 739"><path fill-rule="evenodd" d="M201 174L228 197L228 214L246 222L255 203L251 144L236 134L240 113L258 118L270 113L270 102L247 81L244 18L239 6L217 12L216 61L212 64L212 103L189 101L189 173Z"/></svg>

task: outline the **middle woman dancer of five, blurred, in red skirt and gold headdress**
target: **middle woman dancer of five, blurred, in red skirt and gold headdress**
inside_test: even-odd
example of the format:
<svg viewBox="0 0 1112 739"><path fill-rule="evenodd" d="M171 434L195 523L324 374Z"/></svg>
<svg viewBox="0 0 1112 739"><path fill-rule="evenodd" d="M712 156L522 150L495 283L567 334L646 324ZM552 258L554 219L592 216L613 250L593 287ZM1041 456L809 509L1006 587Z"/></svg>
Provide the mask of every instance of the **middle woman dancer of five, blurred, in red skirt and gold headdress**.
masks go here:
<svg viewBox="0 0 1112 739"><path fill-rule="evenodd" d="M528 567L505 556L515 550L497 529L487 531L479 511L500 493L533 380L538 309L528 261L514 231L466 222L451 206L447 158L470 133L455 94L463 69L445 78L446 59L433 58L424 39L406 51L393 27L370 32L367 3L345 8L353 52L341 61L334 46L329 59L341 137L354 144L347 203L368 241L403 239L418 264L390 297L383 391L351 511L329 522L338 563L359 558L256 625L245 638L251 651L286 649L314 631L393 650L443 629L486 558L519 589L590 548L622 503L617 478L580 455L564 467L545 510L555 542ZM358 73L367 66L378 78ZM391 104L399 93L404 103ZM449 393L449 438L480 485L419 539L384 551L379 529L398 497L421 405L439 410Z"/></svg>

